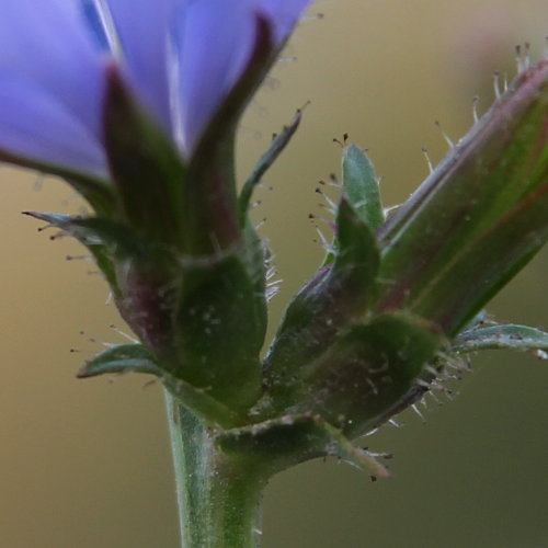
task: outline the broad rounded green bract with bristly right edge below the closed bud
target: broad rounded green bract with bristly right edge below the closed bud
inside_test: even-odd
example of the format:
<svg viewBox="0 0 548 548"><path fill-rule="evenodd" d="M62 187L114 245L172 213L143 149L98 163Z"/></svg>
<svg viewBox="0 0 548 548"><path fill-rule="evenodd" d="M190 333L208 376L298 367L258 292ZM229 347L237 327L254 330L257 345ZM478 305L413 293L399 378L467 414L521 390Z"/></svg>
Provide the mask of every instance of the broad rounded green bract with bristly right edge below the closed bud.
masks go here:
<svg viewBox="0 0 548 548"><path fill-rule="evenodd" d="M350 438L376 427L416 386L427 384L446 339L437 326L406 313L386 313L341 334L298 375L292 409L318 413Z"/></svg>

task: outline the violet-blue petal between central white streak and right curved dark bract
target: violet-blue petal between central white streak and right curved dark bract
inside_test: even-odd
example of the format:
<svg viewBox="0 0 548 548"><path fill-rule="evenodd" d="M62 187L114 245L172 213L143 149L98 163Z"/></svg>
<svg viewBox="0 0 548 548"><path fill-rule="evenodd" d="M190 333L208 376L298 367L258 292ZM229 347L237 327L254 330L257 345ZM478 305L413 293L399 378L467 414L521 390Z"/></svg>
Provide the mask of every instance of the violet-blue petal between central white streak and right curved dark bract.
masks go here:
<svg viewBox="0 0 548 548"><path fill-rule="evenodd" d="M186 0L171 59L172 105L180 146L190 155L241 77L256 37L252 0Z"/></svg>

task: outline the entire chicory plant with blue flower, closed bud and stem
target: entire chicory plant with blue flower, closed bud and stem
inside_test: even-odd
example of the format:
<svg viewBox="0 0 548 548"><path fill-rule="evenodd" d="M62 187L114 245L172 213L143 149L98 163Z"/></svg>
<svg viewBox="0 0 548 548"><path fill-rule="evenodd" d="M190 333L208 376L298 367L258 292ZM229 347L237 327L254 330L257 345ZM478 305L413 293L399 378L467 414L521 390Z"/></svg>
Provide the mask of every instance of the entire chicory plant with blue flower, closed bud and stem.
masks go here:
<svg viewBox="0 0 548 548"><path fill-rule="evenodd" d="M3 0L0 160L58 175L90 214L28 212L94 256L139 342L82 378L165 387L183 545L258 546L270 477L353 442L443 386L463 355L545 356L548 335L481 321L548 233L548 61L523 67L420 189L387 212L344 142L333 241L267 326L267 249L235 175L243 110L309 0Z"/></svg>

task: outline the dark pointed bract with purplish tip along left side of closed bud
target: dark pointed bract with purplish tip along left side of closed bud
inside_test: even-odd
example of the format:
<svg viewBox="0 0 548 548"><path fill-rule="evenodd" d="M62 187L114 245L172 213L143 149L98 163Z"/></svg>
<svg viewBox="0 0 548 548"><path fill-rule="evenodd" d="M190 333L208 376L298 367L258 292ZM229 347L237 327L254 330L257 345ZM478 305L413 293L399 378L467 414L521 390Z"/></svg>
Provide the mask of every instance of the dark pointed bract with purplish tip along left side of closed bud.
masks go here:
<svg viewBox="0 0 548 548"><path fill-rule="evenodd" d="M365 318L379 265L375 235L343 196L336 216L338 252L289 304L265 359L270 389L289 393L298 368L316 359L349 326ZM283 395L279 395L283 399Z"/></svg>

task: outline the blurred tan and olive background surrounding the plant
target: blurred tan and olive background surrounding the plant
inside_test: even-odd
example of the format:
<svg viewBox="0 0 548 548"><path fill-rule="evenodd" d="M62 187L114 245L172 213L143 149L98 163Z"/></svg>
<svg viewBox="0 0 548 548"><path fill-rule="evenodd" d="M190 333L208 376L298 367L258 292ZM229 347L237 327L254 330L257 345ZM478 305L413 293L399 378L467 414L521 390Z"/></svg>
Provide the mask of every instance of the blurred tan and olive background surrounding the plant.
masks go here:
<svg viewBox="0 0 548 548"><path fill-rule="evenodd" d="M308 214L339 173L344 133L369 150L398 204L492 101L495 70L515 72L514 45L540 58L546 0L323 0L292 39L242 124L241 178L271 134L307 101L302 126L269 172L253 214L289 296L322 256ZM147 378L77 380L80 364L123 336L106 285L67 239L49 240L27 209L78 212L64 184L0 168L0 546L174 548L172 469L161 389ZM266 189L272 186L273 190ZM320 228L321 225L320 225ZM323 227L326 229L326 227ZM327 229L326 229L327 231ZM73 260L67 261L71 256ZM548 328L544 252L496 297L501 321ZM475 359L459 395L367 439L395 453L395 478L328 460L274 478L264 548L548 547L548 364L492 352Z"/></svg>

